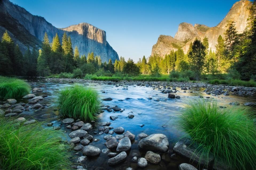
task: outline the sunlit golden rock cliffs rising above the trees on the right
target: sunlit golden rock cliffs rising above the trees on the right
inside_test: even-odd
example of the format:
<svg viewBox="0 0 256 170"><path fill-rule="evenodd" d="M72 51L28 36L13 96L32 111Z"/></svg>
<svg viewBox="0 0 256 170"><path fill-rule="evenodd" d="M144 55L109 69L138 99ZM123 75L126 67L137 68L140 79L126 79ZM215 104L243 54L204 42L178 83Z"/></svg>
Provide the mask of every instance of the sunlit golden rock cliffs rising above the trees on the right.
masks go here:
<svg viewBox="0 0 256 170"><path fill-rule="evenodd" d="M189 23L180 23L174 38L167 35L159 36L157 43L152 47L151 55L157 54L164 57L170 51L176 51L178 48L182 48L184 53L187 53L191 42L194 42L196 38L202 41L204 37L208 38L209 49L211 48L212 51L215 51L219 35L223 38L225 37L224 32L227 29L228 21L235 22L235 28L238 33L242 33L245 30L251 5L251 1L248 0L234 3L226 17L215 27L207 27L202 24L192 26Z"/></svg>

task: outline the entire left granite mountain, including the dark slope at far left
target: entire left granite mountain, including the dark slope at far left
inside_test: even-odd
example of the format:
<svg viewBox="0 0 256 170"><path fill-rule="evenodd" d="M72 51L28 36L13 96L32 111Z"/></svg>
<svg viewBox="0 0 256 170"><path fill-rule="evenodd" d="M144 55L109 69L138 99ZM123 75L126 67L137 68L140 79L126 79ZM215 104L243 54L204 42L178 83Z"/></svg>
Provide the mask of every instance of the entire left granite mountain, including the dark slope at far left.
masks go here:
<svg viewBox="0 0 256 170"><path fill-rule="evenodd" d="M101 57L102 62L109 59L112 61L119 60L117 52L107 42L106 32L88 23L56 28L45 18L32 15L9 0L0 1L0 11L1 18L5 18L0 21L0 36L3 35L5 30L8 30L22 52L25 52L26 45L41 47L45 32L48 34L50 42L52 42L56 33L59 37L62 37L66 32L71 37L73 49L77 46L80 54L87 55L88 52L93 52L95 56ZM25 40L20 38L21 36L24 36Z"/></svg>

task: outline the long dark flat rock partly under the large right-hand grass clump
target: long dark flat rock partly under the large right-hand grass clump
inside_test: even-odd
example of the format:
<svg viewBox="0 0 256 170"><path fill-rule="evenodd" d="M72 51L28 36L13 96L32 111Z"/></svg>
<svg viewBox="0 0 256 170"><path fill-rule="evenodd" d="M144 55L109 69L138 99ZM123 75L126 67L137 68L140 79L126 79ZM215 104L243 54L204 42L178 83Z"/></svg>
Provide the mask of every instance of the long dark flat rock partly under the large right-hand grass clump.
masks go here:
<svg viewBox="0 0 256 170"><path fill-rule="evenodd" d="M195 148L197 147L195 144L191 143L190 139L183 138L175 144L173 151L184 157L187 157L188 159L193 160L195 163L200 162L201 165L208 165L213 162L214 158L212 154L209 154L207 162L207 158L204 158L204 156L200 157L202 154L195 150Z"/></svg>

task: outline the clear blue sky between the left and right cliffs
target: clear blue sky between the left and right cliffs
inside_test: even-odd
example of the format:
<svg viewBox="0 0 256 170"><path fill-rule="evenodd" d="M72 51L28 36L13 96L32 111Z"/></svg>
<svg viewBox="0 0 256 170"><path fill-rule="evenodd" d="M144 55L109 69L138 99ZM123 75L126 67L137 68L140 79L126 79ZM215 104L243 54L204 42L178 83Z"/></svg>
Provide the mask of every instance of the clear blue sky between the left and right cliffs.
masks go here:
<svg viewBox="0 0 256 170"><path fill-rule="evenodd" d="M238 0L10 0L53 26L87 22L105 30L120 56L137 61L151 55L159 35L174 36L181 22L216 26Z"/></svg>

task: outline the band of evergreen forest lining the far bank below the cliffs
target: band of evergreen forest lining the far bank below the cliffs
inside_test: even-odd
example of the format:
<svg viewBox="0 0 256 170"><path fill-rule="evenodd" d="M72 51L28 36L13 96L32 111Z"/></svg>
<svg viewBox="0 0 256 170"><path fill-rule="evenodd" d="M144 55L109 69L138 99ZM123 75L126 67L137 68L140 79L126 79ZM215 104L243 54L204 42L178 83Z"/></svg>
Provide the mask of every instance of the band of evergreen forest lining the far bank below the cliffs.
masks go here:
<svg viewBox="0 0 256 170"><path fill-rule="evenodd" d="M219 73L233 73L237 79L256 79L256 13L255 1L251 8L250 18L246 30L238 34L234 22L227 24L225 37L219 35L216 51L209 49L208 39L196 39L191 42L187 54L182 49L171 51L164 58L154 55L148 61L145 56L135 64L132 59L112 63L111 59L102 63L100 56L94 53L80 55L79 49L72 48L70 37L66 34L60 40L58 34L49 42L45 33L42 48L30 49L22 55L18 45L15 45L6 31L0 43L0 73L2 75L17 76L49 76L60 73L73 73L75 77L85 74L113 74L130 75L169 74L171 71L192 71L196 80L201 74L216 75ZM209 50L208 50L209 49Z"/></svg>

